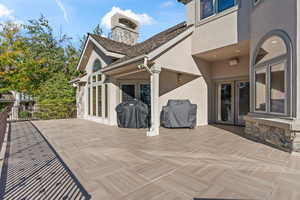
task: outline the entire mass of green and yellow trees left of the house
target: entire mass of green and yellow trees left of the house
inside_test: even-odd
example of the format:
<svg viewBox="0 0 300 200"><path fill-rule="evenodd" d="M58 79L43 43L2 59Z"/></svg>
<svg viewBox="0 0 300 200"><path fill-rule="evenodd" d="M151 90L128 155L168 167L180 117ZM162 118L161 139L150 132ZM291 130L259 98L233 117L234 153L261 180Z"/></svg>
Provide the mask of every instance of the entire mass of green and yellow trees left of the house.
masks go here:
<svg viewBox="0 0 300 200"><path fill-rule="evenodd" d="M69 81L79 75L80 55L70 39L56 38L44 16L24 26L1 24L0 93L18 91L36 97L42 119L70 117L75 92Z"/></svg>

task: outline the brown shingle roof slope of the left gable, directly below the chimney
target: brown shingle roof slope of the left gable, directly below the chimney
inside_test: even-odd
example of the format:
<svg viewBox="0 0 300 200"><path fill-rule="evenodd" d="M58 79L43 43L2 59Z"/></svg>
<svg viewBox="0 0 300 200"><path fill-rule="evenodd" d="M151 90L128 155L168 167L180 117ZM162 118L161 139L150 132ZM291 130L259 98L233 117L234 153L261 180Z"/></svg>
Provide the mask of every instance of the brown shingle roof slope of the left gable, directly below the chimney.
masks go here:
<svg viewBox="0 0 300 200"><path fill-rule="evenodd" d="M126 50L132 47L125 43L117 42L105 37L101 37L99 35L95 35L95 34L89 34L89 35L92 38L94 38L101 46L103 46L104 49L110 52L126 55L127 52Z"/></svg>

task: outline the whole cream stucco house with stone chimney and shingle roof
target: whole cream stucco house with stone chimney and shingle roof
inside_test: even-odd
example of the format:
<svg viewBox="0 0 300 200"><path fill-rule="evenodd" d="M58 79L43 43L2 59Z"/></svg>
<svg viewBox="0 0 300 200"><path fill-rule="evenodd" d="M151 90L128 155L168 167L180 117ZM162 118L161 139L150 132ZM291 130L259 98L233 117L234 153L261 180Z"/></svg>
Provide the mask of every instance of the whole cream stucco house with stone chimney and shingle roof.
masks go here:
<svg viewBox="0 0 300 200"><path fill-rule="evenodd" d="M197 104L197 125L245 125L245 134L300 149L300 3L178 0L186 21L137 43L139 24L112 18L112 38L89 34L75 80L78 118L117 125L116 106L151 104L159 134L170 99Z"/></svg>

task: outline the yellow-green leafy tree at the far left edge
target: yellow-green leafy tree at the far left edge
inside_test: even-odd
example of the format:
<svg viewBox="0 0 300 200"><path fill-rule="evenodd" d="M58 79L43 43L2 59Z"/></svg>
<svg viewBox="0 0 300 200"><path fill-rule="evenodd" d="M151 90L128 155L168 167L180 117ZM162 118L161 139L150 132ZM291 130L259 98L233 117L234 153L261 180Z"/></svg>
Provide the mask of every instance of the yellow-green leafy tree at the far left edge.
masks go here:
<svg viewBox="0 0 300 200"><path fill-rule="evenodd" d="M44 58L32 55L26 38L21 34L22 26L7 22L1 27L0 92L14 90L32 94L47 74L42 68Z"/></svg>

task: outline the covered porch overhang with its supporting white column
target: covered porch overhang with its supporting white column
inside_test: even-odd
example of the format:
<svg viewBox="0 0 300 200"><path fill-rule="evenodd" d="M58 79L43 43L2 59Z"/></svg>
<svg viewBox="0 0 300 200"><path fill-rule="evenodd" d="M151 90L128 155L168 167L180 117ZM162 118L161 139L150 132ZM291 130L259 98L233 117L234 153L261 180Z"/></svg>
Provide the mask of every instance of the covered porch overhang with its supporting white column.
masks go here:
<svg viewBox="0 0 300 200"><path fill-rule="evenodd" d="M139 88L141 84L150 85L151 123L147 136L159 135L160 112L162 104L166 103L166 99L169 98L168 94L199 77L199 75L162 66L161 63L148 60L147 57L141 57L136 62L102 70L109 79L117 83L120 90L123 84L136 84L139 85ZM177 97L173 95L173 98Z"/></svg>

